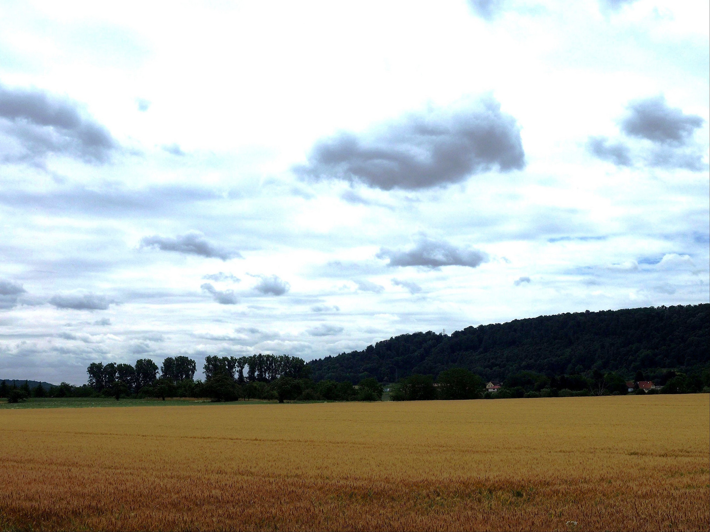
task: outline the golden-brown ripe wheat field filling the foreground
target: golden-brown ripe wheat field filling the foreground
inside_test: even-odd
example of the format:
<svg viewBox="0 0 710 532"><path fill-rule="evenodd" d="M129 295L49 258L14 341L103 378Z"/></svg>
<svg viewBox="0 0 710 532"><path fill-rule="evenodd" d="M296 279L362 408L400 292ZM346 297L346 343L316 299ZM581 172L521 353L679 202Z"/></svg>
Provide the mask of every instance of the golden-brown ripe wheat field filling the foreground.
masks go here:
<svg viewBox="0 0 710 532"><path fill-rule="evenodd" d="M710 397L0 411L0 525L708 530Z"/></svg>

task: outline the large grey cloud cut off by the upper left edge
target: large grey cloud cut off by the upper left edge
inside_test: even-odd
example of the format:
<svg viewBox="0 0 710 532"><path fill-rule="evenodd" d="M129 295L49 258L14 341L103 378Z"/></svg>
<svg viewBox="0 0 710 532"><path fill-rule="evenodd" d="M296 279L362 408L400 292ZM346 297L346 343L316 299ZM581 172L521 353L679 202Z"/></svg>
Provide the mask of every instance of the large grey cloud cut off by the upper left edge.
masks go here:
<svg viewBox="0 0 710 532"><path fill-rule="evenodd" d="M107 128L86 116L76 101L1 85L0 146L4 160L35 164L49 153L107 162L119 148Z"/></svg>

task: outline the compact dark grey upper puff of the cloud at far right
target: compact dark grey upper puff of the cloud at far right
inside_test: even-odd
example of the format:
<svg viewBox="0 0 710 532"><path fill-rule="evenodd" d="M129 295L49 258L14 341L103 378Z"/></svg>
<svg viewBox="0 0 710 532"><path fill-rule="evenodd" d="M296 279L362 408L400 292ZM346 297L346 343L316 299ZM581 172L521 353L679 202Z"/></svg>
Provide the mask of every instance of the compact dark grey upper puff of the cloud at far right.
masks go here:
<svg viewBox="0 0 710 532"><path fill-rule="evenodd" d="M628 110L628 116L621 122L621 131L655 143L687 144L704 123L700 116L668 106L662 95L632 101Z"/></svg>

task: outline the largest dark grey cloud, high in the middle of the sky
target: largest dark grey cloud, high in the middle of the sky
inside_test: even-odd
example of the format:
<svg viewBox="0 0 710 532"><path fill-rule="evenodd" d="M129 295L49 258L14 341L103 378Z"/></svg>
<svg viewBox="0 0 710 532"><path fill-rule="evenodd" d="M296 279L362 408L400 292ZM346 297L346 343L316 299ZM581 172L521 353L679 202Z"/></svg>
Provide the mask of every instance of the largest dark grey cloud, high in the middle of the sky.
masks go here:
<svg viewBox="0 0 710 532"><path fill-rule="evenodd" d="M472 174L520 170L520 128L492 98L470 109L430 110L385 123L370 133L339 133L318 141L302 177L344 179L383 190L424 189Z"/></svg>

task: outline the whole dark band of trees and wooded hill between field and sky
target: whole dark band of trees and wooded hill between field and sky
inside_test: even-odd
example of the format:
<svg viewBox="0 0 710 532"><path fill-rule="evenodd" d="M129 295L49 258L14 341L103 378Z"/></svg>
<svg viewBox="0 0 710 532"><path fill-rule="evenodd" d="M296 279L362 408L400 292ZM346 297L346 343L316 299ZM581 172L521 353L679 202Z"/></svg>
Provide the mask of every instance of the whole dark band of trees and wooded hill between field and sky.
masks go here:
<svg viewBox="0 0 710 532"><path fill-rule="evenodd" d="M305 362L288 355L93 362L80 387L0 382L0 397L373 401L710 392L710 305L540 316L411 333ZM500 381L500 382L497 382ZM638 383L653 381L653 389ZM499 385L486 392L486 382Z"/></svg>

